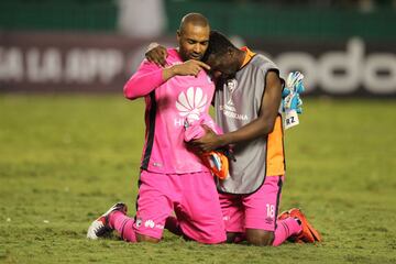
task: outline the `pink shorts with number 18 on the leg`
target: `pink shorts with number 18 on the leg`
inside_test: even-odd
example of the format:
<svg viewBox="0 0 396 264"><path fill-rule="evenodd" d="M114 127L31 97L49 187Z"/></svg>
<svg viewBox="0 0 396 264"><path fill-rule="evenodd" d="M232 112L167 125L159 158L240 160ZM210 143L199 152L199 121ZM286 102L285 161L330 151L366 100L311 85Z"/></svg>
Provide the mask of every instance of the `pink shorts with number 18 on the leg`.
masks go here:
<svg viewBox="0 0 396 264"><path fill-rule="evenodd" d="M251 195L220 194L227 232L244 232L245 229L275 231L283 180L283 176L267 176Z"/></svg>

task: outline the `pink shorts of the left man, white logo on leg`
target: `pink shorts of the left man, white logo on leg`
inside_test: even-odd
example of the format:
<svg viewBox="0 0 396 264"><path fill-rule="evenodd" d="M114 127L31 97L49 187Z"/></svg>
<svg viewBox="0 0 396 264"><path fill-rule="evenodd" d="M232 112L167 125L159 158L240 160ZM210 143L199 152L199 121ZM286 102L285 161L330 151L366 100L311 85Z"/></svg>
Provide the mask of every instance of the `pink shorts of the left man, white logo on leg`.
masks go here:
<svg viewBox="0 0 396 264"><path fill-rule="evenodd" d="M161 239L166 218L175 211L183 233L207 244L226 241L219 196L210 173L141 172L136 233Z"/></svg>

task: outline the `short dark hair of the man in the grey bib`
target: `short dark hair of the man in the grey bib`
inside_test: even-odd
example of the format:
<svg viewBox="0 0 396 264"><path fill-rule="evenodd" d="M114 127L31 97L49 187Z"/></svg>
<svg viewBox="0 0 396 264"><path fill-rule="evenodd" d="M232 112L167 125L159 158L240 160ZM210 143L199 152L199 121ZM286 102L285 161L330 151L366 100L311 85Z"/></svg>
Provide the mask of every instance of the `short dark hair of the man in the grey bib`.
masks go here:
<svg viewBox="0 0 396 264"><path fill-rule="evenodd" d="M218 31L210 31L209 46L202 57L202 62L207 62L211 55L215 55L216 57L222 56L228 53L230 48L238 50L227 36Z"/></svg>

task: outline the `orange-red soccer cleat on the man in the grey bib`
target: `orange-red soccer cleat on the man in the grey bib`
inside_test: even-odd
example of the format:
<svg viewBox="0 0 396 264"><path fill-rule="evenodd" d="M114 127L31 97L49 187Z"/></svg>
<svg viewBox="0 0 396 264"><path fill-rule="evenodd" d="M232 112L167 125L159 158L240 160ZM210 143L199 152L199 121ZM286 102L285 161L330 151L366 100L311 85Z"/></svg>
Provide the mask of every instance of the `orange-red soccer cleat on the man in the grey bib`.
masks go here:
<svg viewBox="0 0 396 264"><path fill-rule="evenodd" d="M301 232L295 237L292 237L290 240L294 242L305 242L305 243L315 243L316 241L321 242L321 235L319 232L310 224L305 217L305 215L301 212L298 208L293 208L288 210L288 216L292 218L296 218L301 223ZM282 215L280 215L282 216ZM280 217L279 216L279 217Z"/></svg>

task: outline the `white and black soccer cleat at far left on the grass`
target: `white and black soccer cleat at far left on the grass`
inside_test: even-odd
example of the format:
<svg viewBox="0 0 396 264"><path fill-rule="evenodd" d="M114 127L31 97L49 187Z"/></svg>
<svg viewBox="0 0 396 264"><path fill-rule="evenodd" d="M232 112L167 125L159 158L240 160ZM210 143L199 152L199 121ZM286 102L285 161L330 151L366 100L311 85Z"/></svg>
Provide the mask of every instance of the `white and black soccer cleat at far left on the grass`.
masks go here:
<svg viewBox="0 0 396 264"><path fill-rule="evenodd" d="M101 215L97 220L95 220L88 228L87 238L97 240L100 237L105 237L112 231L112 228L109 226L109 216L113 211L121 211L127 215L128 207L123 202L117 202L113 205L107 212Z"/></svg>

